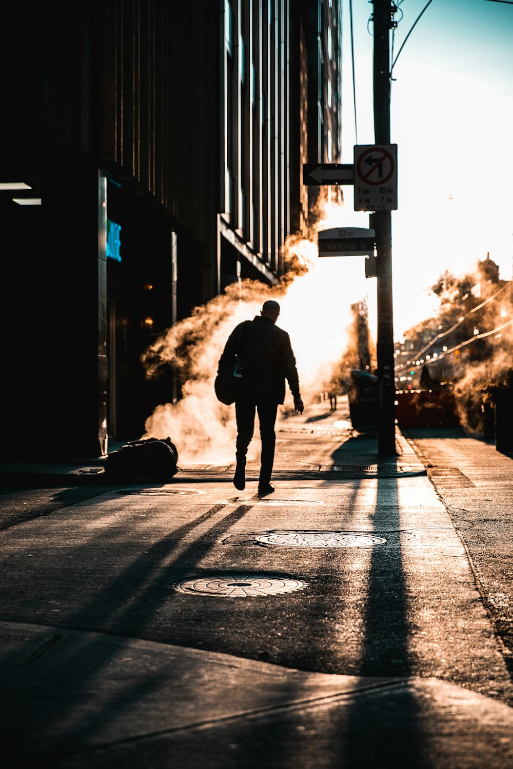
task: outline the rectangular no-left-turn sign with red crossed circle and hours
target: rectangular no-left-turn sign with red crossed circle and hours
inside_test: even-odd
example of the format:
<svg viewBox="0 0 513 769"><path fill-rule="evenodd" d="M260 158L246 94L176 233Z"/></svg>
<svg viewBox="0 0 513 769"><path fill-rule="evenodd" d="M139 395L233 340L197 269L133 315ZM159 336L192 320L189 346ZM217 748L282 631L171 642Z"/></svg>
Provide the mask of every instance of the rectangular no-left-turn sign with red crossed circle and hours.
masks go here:
<svg viewBox="0 0 513 769"><path fill-rule="evenodd" d="M397 145L355 145L355 211L397 211Z"/></svg>

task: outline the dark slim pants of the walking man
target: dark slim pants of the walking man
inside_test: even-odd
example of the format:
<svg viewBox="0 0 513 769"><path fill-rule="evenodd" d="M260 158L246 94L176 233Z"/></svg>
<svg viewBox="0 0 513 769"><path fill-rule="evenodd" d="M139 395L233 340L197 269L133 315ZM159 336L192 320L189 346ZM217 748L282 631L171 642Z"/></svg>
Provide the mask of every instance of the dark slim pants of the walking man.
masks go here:
<svg viewBox="0 0 513 769"><path fill-rule="evenodd" d="M238 462L245 462L248 446L255 430L255 410L260 422L261 457L260 478L258 485L271 481L272 465L275 461L275 421L278 404L272 398L240 398L235 401L237 419L236 457Z"/></svg>

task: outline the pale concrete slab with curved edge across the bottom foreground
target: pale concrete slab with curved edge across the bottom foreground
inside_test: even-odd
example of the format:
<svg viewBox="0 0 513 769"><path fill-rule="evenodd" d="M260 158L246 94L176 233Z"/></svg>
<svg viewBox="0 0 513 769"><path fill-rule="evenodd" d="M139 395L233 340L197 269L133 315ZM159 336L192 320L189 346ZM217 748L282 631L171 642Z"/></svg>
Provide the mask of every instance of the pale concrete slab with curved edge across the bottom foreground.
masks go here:
<svg viewBox="0 0 513 769"><path fill-rule="evenodd" d="M308 673L18 623L0 632L5 767L513 765L513 710L435 678Z"/></svg>

